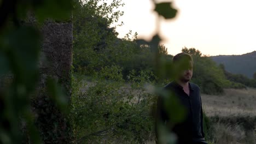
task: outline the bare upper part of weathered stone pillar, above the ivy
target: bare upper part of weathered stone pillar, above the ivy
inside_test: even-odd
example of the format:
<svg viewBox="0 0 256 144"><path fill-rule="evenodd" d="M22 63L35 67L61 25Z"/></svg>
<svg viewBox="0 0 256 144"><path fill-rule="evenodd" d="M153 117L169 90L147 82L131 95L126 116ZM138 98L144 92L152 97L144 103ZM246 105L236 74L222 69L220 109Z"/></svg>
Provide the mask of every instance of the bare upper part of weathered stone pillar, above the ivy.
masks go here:
<svg viewBox="0 0 256 144"><path fill-rule="evenodd" d="M41 59L46 59L46 61L40 62L40 74L47 74L61 81L70 81L73 43L72 23L49 21L43 26L42 33L42 56L44 58ZM62 84L70 89L69 83Z"/></svg>

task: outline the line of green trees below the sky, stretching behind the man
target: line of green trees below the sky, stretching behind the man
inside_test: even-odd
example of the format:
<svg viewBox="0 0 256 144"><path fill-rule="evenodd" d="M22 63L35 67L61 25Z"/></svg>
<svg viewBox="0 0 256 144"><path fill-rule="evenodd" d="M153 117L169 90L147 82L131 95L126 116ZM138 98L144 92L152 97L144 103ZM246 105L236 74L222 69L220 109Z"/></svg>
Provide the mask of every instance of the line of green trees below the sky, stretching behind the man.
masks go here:
<svg viewBox="0 0 256 144"><path fill-rule="evenodd" d="M141 43L137 39L137 33L132 35L132 31L124 38L118 38L118 33L114 27L110 27L110 24L117 21L123 12L100 10L107 7L114 9L121 7L122 4L119 1L110 5L96 3L92 1L78 3L77 10L74 11L74 71L83 75L94 75L103 67L117 65L124 80L127 80L131 71L139 74L139 71L148 70L156 75L153 46ZM195 48L183 47L182 51L193 56L193 82L201 87L203 93L220 94L223 88L256 87L255 80L228 73L224 65L217 65L210 57L202 55ZM160 61L168 67L173 56L168 55L167 47L164 45L158 45L158 52ZM172 72L168 71L170 70L168 68L161 69L164 70L166 73L150 79L158 83L171 81Z"/></svg>

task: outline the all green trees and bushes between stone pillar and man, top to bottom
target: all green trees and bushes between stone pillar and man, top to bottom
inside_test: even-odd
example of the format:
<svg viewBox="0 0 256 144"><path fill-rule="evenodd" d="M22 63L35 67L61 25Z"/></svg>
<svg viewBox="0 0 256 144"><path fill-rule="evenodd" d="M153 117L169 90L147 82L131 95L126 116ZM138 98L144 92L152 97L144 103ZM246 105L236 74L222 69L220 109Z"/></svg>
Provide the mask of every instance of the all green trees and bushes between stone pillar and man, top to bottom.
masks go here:
<svg viewBox="0 0 256 144"><path fill-rule="evenodd" d="M110 9L121 6L115 3L109 4ZM74 134L81 143L117 139L142 143L153 134L150 110L156 101L144 86L158 80L158 56L165 62L170 56L166 47L159 45L158 34L151 41L142 40L144 43L139 43L137 33L131 38L131 31L118 39L109 27L113 11L107 15L96 13L104 11L105 6L86 1L78 3L74 10ZM80 74L89 76L90 82ZM86 89L81 90L82 87Z"/></svg>

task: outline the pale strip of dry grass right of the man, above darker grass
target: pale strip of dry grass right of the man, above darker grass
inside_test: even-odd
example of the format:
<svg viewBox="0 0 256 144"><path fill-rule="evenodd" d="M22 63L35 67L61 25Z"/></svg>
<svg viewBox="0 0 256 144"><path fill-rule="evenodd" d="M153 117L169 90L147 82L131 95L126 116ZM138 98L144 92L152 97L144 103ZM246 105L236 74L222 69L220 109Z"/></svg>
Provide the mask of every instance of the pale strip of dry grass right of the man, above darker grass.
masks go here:
<svg viewBox="0 0 256 144"><path fill-rule="evenodd" d="M256 116L256 89L225 89L222 95L202 94L207 116Z"/></svg>

